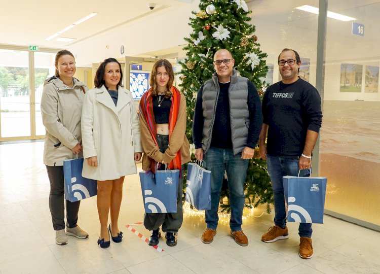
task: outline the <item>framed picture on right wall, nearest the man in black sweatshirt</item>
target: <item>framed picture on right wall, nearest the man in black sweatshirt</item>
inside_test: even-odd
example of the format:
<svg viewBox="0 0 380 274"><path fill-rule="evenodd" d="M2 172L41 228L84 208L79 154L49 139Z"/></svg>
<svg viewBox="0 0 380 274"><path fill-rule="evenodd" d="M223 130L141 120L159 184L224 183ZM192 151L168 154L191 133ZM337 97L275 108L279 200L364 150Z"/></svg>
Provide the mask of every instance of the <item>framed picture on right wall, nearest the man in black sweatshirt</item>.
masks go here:
<svg viewBox="0 0 380 274"><path fill-rule="evenodd" d="M363 65L341 63L340 92L362 92Z"/></svg>

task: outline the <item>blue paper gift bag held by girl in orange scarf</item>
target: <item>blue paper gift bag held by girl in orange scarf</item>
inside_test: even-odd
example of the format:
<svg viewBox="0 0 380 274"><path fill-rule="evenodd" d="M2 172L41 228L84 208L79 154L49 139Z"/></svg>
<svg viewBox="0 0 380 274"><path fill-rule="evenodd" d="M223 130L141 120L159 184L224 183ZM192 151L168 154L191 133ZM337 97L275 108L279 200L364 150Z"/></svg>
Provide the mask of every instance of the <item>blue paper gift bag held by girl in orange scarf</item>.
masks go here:
<svg viewBox="0 0 380 274"><path fill-rule="evenodd" d="M146 213L177 212L179 169L140 172L140 183Z"/></svg>

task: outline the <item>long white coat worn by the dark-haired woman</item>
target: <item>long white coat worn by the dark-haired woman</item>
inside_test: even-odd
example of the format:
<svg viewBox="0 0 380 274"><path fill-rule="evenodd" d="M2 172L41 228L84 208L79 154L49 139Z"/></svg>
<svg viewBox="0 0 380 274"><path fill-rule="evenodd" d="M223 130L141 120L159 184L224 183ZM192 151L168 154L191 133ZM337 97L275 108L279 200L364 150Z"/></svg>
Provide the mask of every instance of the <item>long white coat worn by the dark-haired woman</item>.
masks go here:
<svg viewBox="0 0 380 274"><path fill-rule="evenodd" d="M142 152L140 126L132 93L118 89L117 106L107 89L93 88L86 92L82 109L82 176L98 181L115 180L136 174L134 153ZM98 166L87 164L97 156Z"/></svg>

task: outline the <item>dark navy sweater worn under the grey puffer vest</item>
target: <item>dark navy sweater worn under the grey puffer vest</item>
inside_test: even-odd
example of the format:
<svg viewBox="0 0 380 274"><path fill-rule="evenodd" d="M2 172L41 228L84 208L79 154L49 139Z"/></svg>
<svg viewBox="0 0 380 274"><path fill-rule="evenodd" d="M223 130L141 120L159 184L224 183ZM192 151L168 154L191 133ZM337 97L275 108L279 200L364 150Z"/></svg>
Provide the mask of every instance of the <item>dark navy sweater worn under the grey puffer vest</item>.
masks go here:
<svg viewBox="0 0 380 274"><path fill-rule="evenodd" d="M230 103L228 97L229 83L219 82L219 96L217 99L214 126L211 135L211 147L232 149ZM202 148L203 140L203 85L198 91L193 119L193 143L195 148ZM249 131L247 147L255 148L258 135L261 130L262 116L260 113L261 102L257 90L252 82L248 81L247 105L249 111Z"/></svg>

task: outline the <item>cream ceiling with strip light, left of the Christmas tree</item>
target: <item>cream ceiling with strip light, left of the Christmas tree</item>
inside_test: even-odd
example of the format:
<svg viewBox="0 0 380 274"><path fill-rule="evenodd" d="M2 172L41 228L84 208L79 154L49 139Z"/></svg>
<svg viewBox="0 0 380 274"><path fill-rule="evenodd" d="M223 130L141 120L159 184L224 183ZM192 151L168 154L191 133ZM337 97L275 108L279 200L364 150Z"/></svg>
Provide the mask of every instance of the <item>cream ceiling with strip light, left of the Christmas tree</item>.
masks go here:
<svg viewBox="0 0 380 274"><path fill-rule="evenodd" d="M147 16L153 17L172 9L189 5L194 0L65 0L52 2L2 1L0 16L0 44L36 45L64 48L112 28L132 23ZM148 3L155 3L153 10ZM70 42L45 39L83 17L98 15L69 29L58 37L73 38ZM57 37L57 38L58 38Z"/></svg>

